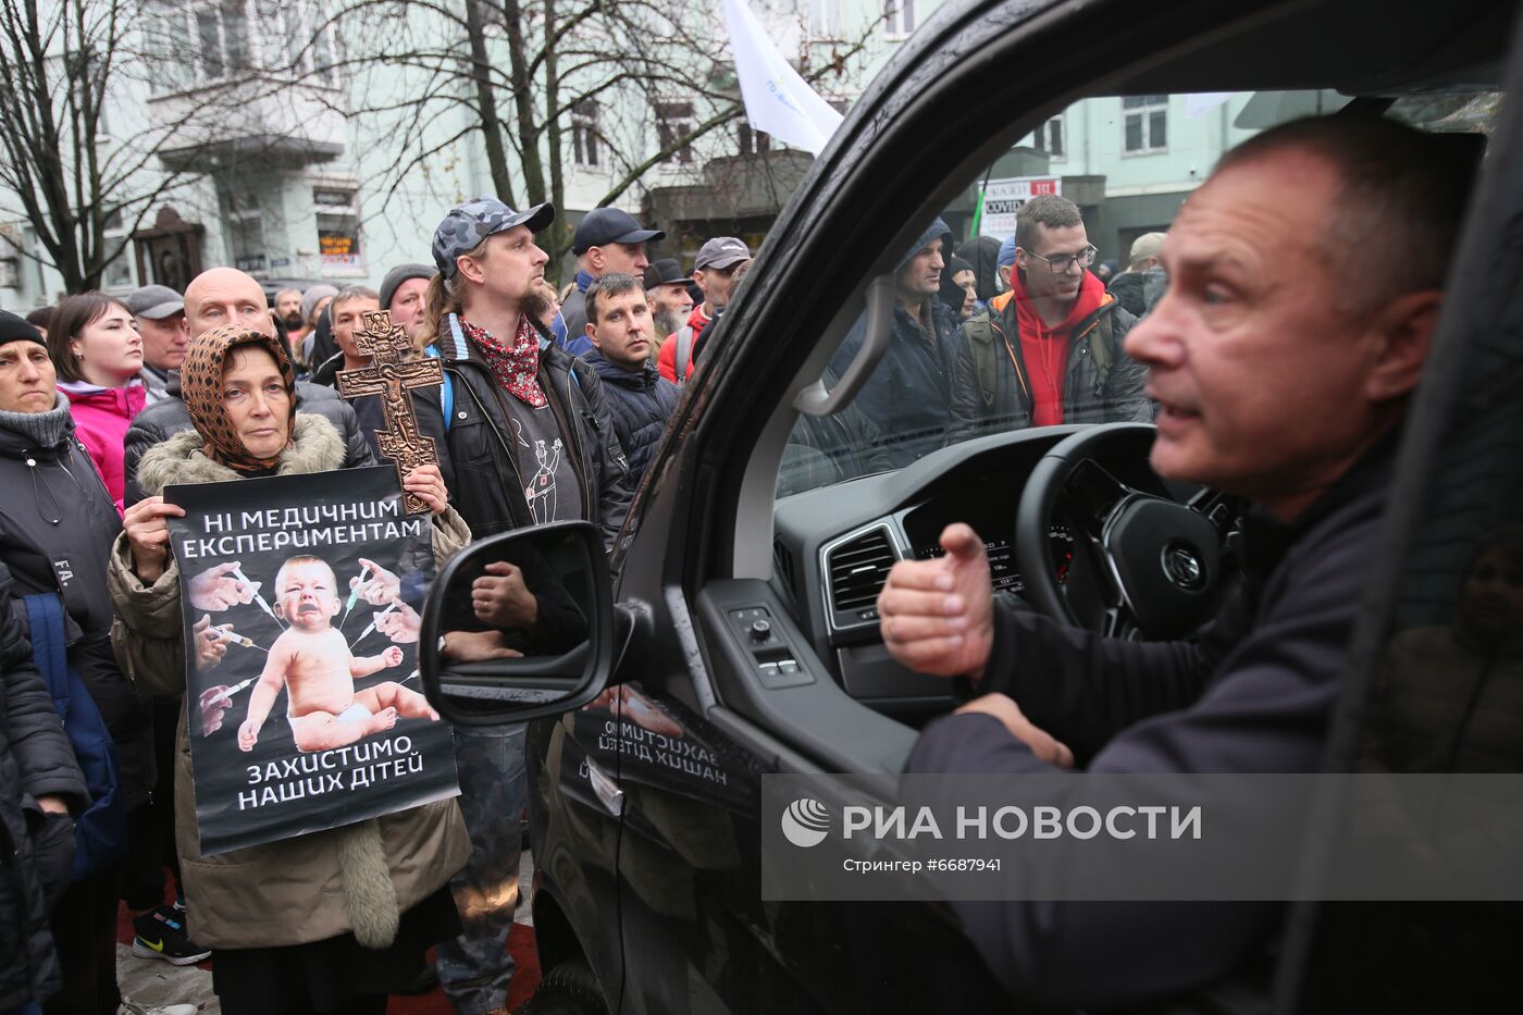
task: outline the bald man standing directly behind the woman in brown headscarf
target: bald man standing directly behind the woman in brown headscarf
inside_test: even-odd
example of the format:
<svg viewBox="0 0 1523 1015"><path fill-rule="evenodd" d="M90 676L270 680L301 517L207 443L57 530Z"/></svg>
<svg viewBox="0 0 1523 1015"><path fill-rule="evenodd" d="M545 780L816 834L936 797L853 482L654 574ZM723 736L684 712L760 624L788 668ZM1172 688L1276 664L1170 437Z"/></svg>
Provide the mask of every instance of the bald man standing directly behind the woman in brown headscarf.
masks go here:
<svg viewBox="0 0 1523 1015"><path fill-rule="evenodd" d="M267 335L276 337L276 323L270 317L270 302L259 280L238 268L210 268L186 287L186 326L192 341L222 325L248 325ZM355 410L338 398L338 393L321 384L295 383L295 408L302 413L326 416L347 448L344 468L352 465L375 465L370 445L359 430ZM190 413L180 399L180 373L171 372L164 386L164 399L149 405L126 431L126 506L142 500L137 486L137 463L143 453L171 434L190 428Z"/></svg>

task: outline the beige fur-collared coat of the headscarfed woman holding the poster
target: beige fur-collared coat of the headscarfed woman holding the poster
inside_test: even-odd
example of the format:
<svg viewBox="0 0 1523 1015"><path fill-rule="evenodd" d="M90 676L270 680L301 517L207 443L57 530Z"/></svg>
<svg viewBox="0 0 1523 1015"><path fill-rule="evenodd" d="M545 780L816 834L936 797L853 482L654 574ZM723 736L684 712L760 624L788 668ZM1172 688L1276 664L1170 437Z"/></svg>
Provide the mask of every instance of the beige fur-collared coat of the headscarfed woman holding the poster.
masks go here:
<svg viewBox="0 0 1523 1015"><path fill-rule="evenodd" d="M238 472L204 453L186 430L155 445L139 465L145 495L171 483L221 483ZM299 413L277 474L327 472L346 465L344 442L321 416ZM451 507L434 518L434 558L443 564L471 540ZM117 622L111 632L128 674L157 693L184 695L180 570L171 559L152 585L133 573L126 535L107 572ZM189 933L207 948L303 945L352 931L361 945L387 946L401 913L443 887L471 853L454 800L203 857L190 779L190 741L181 709L175 744L175 838L189 902Z"/></svg>

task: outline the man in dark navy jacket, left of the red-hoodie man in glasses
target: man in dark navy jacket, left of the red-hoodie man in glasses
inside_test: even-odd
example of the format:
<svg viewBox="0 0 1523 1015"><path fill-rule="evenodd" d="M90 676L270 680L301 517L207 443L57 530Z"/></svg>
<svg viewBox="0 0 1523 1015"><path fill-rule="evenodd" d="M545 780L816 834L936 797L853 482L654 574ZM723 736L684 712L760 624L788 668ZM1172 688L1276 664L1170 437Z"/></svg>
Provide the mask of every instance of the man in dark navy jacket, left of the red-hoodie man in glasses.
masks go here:
<svg viewBox="0 0 1523 1015"><path fill-rule="evenodd" d="M909 465L943 445L950 408L952 309L938 297L952 230L940 218L915 239L894 271L894 325L888 352L857 392L854 404L882 433L892 468ZM847 332L830 360L844 376L867 338L867 315Z"/></svg>

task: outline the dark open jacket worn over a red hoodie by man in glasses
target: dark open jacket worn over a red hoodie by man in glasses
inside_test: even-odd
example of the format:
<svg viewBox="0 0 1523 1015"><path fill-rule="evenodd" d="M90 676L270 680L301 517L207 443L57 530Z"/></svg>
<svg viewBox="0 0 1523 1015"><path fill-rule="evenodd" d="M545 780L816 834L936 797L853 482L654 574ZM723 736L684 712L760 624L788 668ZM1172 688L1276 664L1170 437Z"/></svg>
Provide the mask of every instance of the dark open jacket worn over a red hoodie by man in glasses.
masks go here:
<svg viewBox="0 0 1523 1015"><path fill-rule="evenodd" d="M1109 317L1109 325L1106 323ZM1107 300L1074 325L1063 367L1063 422L1153 422L1153 404L1142 393L1147 370L1122 349L1136 317ZM1097 366L1097 343L1107 343L1107 363ZM993 364L981 376L979 363ZM1019 366L1017 366L1019 364ZM1016 376L1019 369L1020 378ZM947 440L966 440L1031 425L1031 370L1020 352L1016 300L1001 297L975 314L958 334L952 367L952 422ZM985 383L993 381L993 390Z"/></svg>

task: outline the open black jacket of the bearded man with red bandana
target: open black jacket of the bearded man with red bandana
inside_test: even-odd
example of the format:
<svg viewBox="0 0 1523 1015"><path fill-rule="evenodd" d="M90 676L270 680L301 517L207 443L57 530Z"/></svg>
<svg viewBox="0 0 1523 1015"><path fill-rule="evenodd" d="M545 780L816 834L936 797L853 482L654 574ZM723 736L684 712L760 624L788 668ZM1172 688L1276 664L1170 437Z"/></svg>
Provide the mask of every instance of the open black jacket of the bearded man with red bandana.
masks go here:
<svg viewBox="0 0 1523 1015"><path fill-rule="evenodd" d="M503 399L512 395L503 392L469 341L460 351L454 344L448 325L442 326L437 346L454 398L449 436L440 447L440 459L449 459L445 475L454 475L454 483L446 479L449 503L466 520L474 540L533 526L518 459L506 437ZM602 529L603 546L612 549L629 514L634 488L603 383L586 363L545 340L539 343L539 383L573 450L571 468L577 474L583 517ZM423 413L423 398L414 405ZM428 405L433 408L433 401ZM429 433L442 430L443 424L420 419L419 428Z"/></svg>

